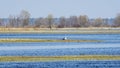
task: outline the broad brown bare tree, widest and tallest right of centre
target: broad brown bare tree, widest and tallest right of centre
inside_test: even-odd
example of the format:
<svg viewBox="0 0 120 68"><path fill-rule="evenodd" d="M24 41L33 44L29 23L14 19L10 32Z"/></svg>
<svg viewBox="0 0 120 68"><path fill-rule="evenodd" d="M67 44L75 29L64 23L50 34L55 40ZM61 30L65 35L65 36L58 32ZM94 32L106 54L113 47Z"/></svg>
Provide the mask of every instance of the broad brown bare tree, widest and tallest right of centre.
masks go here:
<svg viewBox="0 0 120 68"><path fill-rule="evenodd" d="M88 27L89 26L89 19L87 15L80 15L78 18L78 25L80 27Z"/></svg>

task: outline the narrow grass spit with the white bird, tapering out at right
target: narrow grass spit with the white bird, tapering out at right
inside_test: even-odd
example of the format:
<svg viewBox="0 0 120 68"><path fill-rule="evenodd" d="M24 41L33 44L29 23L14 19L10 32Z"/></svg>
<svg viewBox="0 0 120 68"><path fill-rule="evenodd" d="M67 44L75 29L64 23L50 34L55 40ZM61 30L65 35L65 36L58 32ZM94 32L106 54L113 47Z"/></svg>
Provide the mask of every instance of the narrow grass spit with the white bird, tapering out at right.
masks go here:
<svg viewBox="0 0 120 68"><path fill-rule="evenodd" d="M99 40L0 39L0 42L102 42Z"/></svg>

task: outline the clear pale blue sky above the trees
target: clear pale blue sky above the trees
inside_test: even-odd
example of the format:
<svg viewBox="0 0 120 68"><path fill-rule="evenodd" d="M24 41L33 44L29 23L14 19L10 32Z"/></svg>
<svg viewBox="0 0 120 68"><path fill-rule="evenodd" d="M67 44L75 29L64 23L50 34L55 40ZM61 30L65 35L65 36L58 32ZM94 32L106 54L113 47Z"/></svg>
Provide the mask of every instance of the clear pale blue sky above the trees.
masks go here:
<svg viewBox="0 0 120 68"><path fill-rule="evenodd" d="M120 13L120 0L0 0L0 18L19 15L22 10L32 18L87 15L89 18L113 18Z"/></svg>

